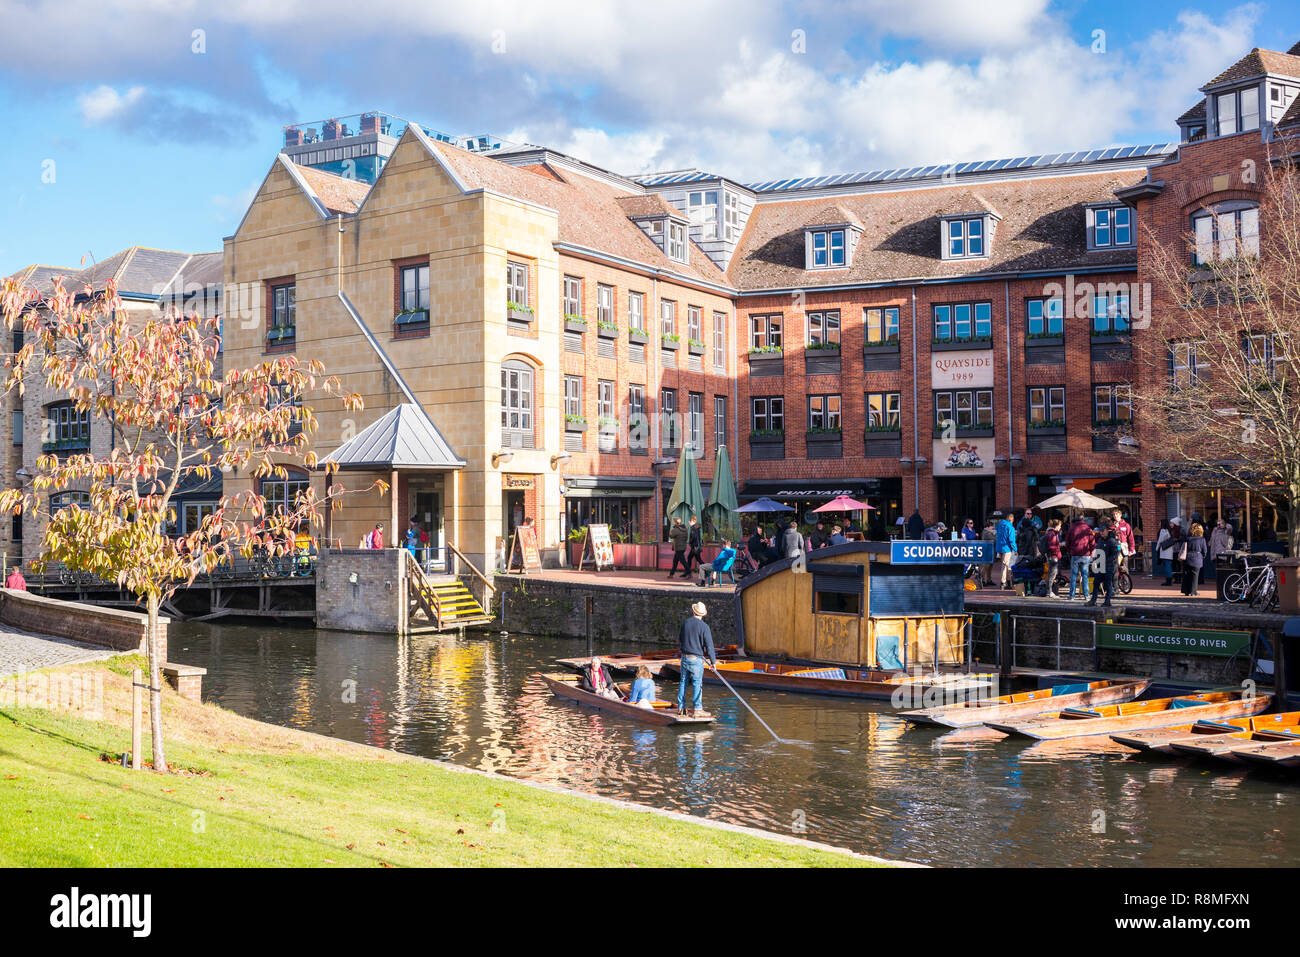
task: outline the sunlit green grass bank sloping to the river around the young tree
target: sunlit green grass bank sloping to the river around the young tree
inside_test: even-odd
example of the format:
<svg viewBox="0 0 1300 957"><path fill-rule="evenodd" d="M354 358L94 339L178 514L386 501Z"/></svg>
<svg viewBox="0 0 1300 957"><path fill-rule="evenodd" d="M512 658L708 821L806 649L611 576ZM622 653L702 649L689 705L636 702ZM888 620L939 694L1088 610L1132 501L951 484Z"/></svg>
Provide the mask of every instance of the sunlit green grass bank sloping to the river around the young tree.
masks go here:
<svg viewBox="0 0 1300 957"><path fill-rule="evenodd" d="M0 865L868 863L462 774L174 693L164 706L168 758L183 770L133 772L112 761L130 748L130 666L57 670L101 679L100 720L0 707Z"/></svg>

